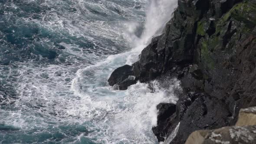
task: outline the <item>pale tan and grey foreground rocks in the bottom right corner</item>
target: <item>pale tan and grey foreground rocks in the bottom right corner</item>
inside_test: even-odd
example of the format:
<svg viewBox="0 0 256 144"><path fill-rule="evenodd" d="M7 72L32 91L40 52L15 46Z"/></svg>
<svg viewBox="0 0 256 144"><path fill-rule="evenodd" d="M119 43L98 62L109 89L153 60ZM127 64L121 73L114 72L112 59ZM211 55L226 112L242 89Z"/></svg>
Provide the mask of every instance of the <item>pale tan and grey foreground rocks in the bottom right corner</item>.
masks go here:
<svg viewBox="0 0 256 144"><path fill-rule="evenodd" d="M256 107L241 109L236 126L194 131L185 144L256 144Z"/></svg>

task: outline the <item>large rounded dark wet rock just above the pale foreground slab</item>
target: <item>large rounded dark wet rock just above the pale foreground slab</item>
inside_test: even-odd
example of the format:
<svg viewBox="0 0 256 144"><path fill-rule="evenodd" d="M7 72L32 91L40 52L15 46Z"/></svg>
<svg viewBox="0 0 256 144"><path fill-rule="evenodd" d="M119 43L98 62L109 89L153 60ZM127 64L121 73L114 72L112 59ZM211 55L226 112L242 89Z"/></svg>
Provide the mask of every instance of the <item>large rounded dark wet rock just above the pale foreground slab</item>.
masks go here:
<svg viewBox="0 0 256 144"><path fill-rule="evenodd" d="M184 144L193 131L226 126L231 116L223 100L203 93L194 94L185 101L179 100L177 105L180 105L177 115L181 123L172 144Z"/></svg>

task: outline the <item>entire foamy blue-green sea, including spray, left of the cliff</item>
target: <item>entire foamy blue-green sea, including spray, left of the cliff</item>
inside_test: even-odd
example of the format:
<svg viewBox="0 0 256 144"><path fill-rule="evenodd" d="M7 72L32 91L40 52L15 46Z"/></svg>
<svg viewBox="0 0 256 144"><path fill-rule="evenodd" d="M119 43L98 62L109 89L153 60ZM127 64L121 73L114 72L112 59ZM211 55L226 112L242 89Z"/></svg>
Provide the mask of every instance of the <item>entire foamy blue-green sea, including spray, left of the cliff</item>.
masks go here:
<svg viewBox="0 0 256 144"><path fill-rule="evenodd" d="M156 144L176 79L113 90L177 0L0 0L0 144ZM154 91L149 88L153 85Z"/></svg>

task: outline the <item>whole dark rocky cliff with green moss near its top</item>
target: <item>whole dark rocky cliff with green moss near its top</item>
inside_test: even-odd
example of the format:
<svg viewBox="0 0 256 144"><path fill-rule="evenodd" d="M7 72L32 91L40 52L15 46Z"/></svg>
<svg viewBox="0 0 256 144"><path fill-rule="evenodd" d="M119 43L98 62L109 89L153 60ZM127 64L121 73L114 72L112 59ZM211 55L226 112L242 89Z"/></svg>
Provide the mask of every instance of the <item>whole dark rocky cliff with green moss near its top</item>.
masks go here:
<svg viewBox="0 0 256 144"><path fill-rule="evenodd" d="M179 124L171 144L183 144L193 131L234 125L241 108L256 106L256 0L178 0L173 14L139 61L109 82L125 90L136 81L180 79L177 105L161 104L152 130L164 141Z"/></svg>

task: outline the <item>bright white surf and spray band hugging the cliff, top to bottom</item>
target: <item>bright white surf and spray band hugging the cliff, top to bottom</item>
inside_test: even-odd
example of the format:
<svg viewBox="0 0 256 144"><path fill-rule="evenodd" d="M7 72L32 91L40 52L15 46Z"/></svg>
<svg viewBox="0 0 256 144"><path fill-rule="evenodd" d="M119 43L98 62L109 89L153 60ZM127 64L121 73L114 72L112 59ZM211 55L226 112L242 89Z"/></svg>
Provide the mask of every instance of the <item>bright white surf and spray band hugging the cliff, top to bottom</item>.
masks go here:
<svg viewBox="0 0 256 144"><path fill-rule="evenodd" d="M151 92L148 84L138 82L131 85L127 91L114 91L108 86L107 79L111 72L124 64L131 64L138 60L141 50L151 42L152 37L162 33L165 23L171 19L171 13L177 6L177 0L152 1L148 8L144 30L141 36L134 36L136 45L131 51L109 56L105 61L86 67L77 72L72 81L72 90L81 98L90 101L88 108L97 111L92 115L100 125L107 124L107 131L97 142L103 143L155 143L151 127L157 123L156 106L161 102L175 103L177 98L174 89L179 88L177 80L170 80L170 86L161 88L157 81L151 82L155 92ZM171 8L170 8L171 7ZM138 28L131 23L129 35ZM100 96L101 95L101 96ZM100 96L100 97L99 97ZM89 100L88 100L89 98ZM93 113L92 113L93 114ZM104 127L103 127L104 128ZM90 137L94 137L90 135Z"/></svg>

